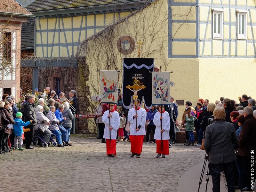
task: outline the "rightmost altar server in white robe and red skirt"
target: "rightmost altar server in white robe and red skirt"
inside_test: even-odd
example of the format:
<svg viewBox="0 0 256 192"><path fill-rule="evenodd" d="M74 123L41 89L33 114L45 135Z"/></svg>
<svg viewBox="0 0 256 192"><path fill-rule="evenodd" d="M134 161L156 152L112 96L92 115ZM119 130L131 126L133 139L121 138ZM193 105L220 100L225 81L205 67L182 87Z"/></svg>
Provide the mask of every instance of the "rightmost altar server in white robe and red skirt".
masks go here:
<svg viewBox="0 0 256 192"><path fill-rule="evenodd" d="M162 111L162 116L161 116ZM161 130L161 119L162 119L162 130ZM165 155L169 155L169 131L170 131L170 116L164 111L164 106L159 105L159 112L157 112L154 116L153 120L156 125L156 131L154 135L154 139L156 140L156 153L157 158L161 156L165 158ZM161 141L161 133L163 134ZM162 146L163 145L163 146Z"/></svg>

